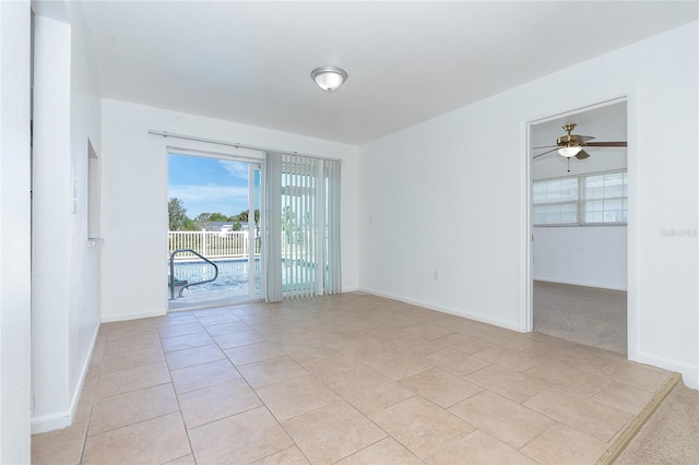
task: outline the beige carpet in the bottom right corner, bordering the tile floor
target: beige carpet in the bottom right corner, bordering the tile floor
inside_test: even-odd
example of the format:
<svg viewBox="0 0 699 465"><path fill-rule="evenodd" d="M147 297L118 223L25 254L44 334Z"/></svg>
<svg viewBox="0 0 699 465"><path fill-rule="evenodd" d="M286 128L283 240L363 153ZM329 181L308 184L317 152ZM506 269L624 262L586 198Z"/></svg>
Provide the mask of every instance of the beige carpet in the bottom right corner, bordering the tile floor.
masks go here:
<svg viewBox="0 0 699 465"><path fill-rule="evenodd" d="M678 383L615 463L699 464L699 392Z"/></svg>

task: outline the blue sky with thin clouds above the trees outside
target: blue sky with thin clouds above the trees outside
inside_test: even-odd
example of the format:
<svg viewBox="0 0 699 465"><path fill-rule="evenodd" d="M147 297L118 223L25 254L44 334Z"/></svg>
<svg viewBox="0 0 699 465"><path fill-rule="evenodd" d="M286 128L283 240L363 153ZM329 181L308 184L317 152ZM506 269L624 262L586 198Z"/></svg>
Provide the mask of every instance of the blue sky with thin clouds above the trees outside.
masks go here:
<svg viewBox="0 0 699 465"><path fill-rule="evenodd" d="M171 198L182 201L192 219L203 212L237 215L248 210L248 164L170 153L168 199Z"/></svg>

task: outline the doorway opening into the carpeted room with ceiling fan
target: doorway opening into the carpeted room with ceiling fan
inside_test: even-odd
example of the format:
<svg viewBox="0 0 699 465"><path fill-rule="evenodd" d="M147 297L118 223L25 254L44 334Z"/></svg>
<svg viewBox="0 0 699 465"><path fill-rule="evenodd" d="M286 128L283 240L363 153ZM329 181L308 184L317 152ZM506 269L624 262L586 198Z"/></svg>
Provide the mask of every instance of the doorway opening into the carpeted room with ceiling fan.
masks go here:
<svg viewBox="0 0 699 465"><path fill-rule="evenodd" d="M564 128L570 123L577 126ZM533 331L626 355L627 150L594 143L627 141L627 103L535 121L530 130ZM558 153L567 134L591 138L581 156Z"/></svg>

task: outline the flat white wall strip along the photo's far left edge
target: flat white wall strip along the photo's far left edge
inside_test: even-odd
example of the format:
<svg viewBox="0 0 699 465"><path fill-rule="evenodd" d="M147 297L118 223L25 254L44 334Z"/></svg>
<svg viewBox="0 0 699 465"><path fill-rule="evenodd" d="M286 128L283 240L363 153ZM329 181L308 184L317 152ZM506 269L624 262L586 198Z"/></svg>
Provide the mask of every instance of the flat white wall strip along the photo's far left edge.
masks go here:
<svg viewBox="0 0 699 465"><path fill-rule="evenodd" d="M0 2L0 463L31 456L29 2Z"/></svg>

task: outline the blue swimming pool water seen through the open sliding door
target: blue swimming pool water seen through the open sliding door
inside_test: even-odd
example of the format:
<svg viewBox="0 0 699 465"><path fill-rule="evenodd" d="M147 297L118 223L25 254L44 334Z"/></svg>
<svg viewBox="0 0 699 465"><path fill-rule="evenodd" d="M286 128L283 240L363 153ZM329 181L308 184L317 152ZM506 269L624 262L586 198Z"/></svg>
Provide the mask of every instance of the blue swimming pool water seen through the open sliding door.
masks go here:
<svg viewBox="0 0 699 465"><path fill-rule="evenodd" d="M182 291L182 297L176 298L178 305L199 303L209 300L221 300L249 296L248 282L250 270L247 259L242 260L212 260L218 266L218 277L211 283L191 286ZM175 277L192 283L198 283L214 277L214 267L204 261L176 262ZM254 260L252 278L254 279L256 295L260 295L260 260ZM175 293L175 297L178 293Z"/></svg>

